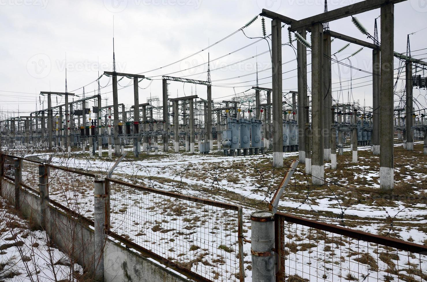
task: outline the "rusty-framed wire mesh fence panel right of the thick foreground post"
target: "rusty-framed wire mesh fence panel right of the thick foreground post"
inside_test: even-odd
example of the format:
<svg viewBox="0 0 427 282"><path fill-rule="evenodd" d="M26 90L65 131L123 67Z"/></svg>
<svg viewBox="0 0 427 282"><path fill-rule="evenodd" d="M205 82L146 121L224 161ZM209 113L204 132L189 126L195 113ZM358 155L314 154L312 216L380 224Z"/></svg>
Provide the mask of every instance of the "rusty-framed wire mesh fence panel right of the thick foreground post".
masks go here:
<svg viewBox="0 0 427 282"><path fill-rule="evenodd" d="M275 214L277 281L427 281L427 246Z"/></svg>

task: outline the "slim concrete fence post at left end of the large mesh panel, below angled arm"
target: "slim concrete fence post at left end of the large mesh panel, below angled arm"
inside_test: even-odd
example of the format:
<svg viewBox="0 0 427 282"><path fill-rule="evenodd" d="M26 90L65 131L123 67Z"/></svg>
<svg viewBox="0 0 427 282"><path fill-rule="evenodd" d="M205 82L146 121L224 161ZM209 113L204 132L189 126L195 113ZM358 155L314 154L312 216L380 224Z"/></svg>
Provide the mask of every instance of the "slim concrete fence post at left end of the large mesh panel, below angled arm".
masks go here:
<svg viewBox="0 0 427 282"><path fill-rule="evenodd" d="M104 281L105 180L95 180L94 189L94 258L95 279Z"/></svg>

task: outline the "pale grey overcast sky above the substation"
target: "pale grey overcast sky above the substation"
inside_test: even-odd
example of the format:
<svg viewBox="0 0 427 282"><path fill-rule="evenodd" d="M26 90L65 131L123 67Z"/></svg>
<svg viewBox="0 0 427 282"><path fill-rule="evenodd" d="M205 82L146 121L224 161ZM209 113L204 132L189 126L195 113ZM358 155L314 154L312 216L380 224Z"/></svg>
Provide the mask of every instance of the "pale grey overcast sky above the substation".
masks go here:
<svg viewBox="0 0 427 282"><path fill-rule="evenodd" d="M351 5L356 0L328 0L329 10ZM67 68L68 92L94 95L98 70L112 71L112 37L114 16L115 58L117 72L143 73L147 77L161 78L161 75L206 80L208 52L211 58L212 95L217 101L232 98L234 93L246 91L255 84L256 68L260 86L270 87L271 60L266 40L249 39L243 32L205 49L227 35L243 27L249 20L266 8L295 19L302 19L323 12L324 0L0 0L0 110L2 113L28 113L41 106L40 91L65 91L65 69ZM380 10L374 10L356 17L373 34L374 19ZM411 50L415 58L426 58L427 50L427 0L408 0L395 5L395 43L397 52L406 52L407 35L410 35ZM380 19L378 19L380 28ZM351 18L330 23L330 29L359 39L366 39L351 22ZM266 32L270 34L271 23L266 19ZM262 36L261 18L244 29L248 37ZM283 43L288 42L287 27L283 29ZM292 36L293 37L293 36ZM307 38L310 40L310 37ZM259 40L258 42L256 42ZM249 44L253 43L250 46ZM271 44L271 41L270 41ZM293 45L296 47L296 43ZM341 40L334 40L332 53L345 46ZM243 48L247 46L246 48ZM241 49L243 48L243 49ZM350 56L360 47L355 44L336 54L339 60ZM202 49L205 51L166 66ZM239 50L234 52L236 50ZM308 50L310 51L310 50ZM227 55L234 52L230 55ZM263 55L257 54L266 52ZM283 89L296 90L296 60L291 46L283 47ZM221 59L217 59L227 55ZM254 58L251 58L254 57ZM308 63L310 63L310 55ZM250 58L249 60L246 60ZM244 60L243 62L239 62ZM371 72L371 50L363 49L350 58L351 65ZM65 63L66 62L66 63ZM99 62L99 63L98 63ZM350 64L348 60L344 60ZM395 67L398 67L395 60ZM227 66L232 64L231 66ZM223 68L221 68L223 67ZM216 69L216 70L214 70ZM351 100L372 104L371 77L369 73L350 69L346 66L332 67L333 97L347 102L347 90L352 84ZM310 72L310 66L308 66ZM201 73L201 74L199 74ZM397 74L397 71L396 71ZM422 75L422 72L418 72ZM243 76L246 75L246 76ZM340 78L342 93L339 92ZM366 77L367 76L367 77ZM427 74L425 75L427 76ZM363 78L365 77L365 78ZM230 79L231 78L231 79ZM287 78L287 79L285 79ZM401 73L404 78L404 72ZM308 85L310 86L310 73ZM109 78L100 79L106 86ZM110 82L111 83L111 82ZM119 82L119 89L127 86L128 78ZM150 84L151 83L151 84ZM147 97L161 97L161 80L140 83L140 103ZM223 87L219 87L223 86ZM234 88L233 88L234 86ZM404 80L398 81L398 90L404 87ZM193 88L193 89L192 89ZM112 87L101 89L105 103L112 104ZM206 98L206 86L171 82L171 97L190 95L197 91L199 97ZM250 93L250 91L246 92ZM414 90L414 97L424 108L427 104L426 90ZM398 99L398 98L395 98ZM58 97L58 103L63 103ZM133 87L119 90L119 103L133 104ZM56 99L53 99L56 104ZM416 104L416 103L415 103ZM93 105L90 105L93 106ZM415 106L417 107L417 106Z"/></svg>

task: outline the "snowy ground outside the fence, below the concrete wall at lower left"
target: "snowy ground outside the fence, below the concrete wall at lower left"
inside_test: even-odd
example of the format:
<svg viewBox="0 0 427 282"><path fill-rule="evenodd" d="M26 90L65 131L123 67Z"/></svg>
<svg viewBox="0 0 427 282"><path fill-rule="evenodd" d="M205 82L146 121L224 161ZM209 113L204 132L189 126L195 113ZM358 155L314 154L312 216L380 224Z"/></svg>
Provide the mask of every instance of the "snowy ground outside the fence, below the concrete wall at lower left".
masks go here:
<svg viewBox="0 0 427 282"><path fill-rule="evenodd" d="M46 232L32 230L0 198L0 281L77 281L82 267L54 246Z"/></svg>

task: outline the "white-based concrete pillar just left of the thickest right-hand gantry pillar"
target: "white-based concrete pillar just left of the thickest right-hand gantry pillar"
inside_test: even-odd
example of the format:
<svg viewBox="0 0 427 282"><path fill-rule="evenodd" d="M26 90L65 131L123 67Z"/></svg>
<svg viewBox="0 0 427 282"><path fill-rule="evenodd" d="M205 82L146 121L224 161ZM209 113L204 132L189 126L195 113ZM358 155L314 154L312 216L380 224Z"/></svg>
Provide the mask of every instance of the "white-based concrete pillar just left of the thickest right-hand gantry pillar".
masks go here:
<svg viewBox="0 0 427 282"><path fill-rule="evenodd" d="M372 154L380 154L380 50L372 50Z"/></svg>

